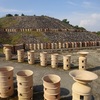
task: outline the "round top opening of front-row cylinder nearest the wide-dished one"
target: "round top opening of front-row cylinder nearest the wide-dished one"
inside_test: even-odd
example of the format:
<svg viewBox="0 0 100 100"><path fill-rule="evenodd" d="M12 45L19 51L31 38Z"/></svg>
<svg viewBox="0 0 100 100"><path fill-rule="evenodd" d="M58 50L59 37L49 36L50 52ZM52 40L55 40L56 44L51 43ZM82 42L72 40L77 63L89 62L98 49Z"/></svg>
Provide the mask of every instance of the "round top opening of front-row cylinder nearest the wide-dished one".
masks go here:
<svg viewBox="0 0 100 100"><path fill-rule="evenodd" d="M49 74L47 76L44 76L42 80L47 83L54 84L60 82L61 78L58 75Z"/></svg>

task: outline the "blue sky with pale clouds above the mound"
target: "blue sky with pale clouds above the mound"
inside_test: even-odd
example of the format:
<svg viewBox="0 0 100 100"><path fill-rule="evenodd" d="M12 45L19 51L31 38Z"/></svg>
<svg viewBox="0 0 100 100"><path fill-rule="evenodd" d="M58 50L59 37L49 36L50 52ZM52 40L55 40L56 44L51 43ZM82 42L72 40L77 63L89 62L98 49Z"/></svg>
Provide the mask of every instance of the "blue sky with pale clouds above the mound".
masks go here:
<svg viewBox="0 0 100 100"><path fill-rule="evenodd" d="M22 13L67 19L74 26L100 31L100 0L0 0L0 17Z"/></svg>

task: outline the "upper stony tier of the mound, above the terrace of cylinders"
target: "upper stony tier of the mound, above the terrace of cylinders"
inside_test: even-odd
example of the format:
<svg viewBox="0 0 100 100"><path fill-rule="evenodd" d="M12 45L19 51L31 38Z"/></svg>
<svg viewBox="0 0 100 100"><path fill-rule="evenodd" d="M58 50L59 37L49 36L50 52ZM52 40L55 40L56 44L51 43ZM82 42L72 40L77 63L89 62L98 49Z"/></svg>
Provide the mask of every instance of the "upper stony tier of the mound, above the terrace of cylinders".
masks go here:
<svg viewBox="0 0 100 100"><path fill-rule="evenodd" d="M2 28L72 29L73 26L48 16L12 16L0 18Z"/></svg>

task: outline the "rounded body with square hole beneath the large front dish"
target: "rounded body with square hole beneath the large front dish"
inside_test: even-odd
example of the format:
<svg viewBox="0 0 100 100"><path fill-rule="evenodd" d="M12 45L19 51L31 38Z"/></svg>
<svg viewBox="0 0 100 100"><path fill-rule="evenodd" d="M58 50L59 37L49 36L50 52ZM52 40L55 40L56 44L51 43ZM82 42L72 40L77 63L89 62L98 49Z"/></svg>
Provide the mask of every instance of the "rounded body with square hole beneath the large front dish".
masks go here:
<svg viewBox="0 0 100 100"><path fill-rule="evenodd" d="M72 100L91 100L91 87L75 82L72 86Z"/></svg>

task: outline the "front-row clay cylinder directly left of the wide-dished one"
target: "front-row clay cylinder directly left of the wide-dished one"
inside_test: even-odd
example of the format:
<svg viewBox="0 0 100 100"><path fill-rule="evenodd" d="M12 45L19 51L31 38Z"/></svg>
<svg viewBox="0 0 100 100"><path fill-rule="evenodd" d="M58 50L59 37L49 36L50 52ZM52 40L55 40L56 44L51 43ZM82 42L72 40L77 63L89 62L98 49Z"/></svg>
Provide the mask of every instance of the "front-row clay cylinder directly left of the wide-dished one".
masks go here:
<svg viewBox="0 0 100 100"><path fill-rule="evenodd" d="M49 74L43 78L45 100L60 100L60 80L55 74Z"/></svg>

